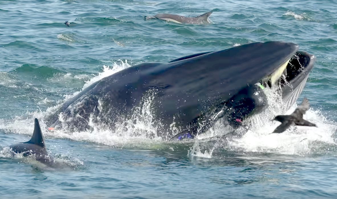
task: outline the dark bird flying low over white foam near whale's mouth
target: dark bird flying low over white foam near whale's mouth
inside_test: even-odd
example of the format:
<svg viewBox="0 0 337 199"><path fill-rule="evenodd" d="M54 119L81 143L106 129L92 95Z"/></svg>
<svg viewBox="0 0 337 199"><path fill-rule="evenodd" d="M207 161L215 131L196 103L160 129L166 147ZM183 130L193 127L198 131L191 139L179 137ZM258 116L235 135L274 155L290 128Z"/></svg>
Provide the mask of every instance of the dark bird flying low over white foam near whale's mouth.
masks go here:
<svg viewBox="0 0 337 199"><path fill-rule="evenodd" d="M302 104L295 109L295 111L290 115L278 115L273 120L282 122L272 133L282 133L287 128L293 125L298 126L316 126L307 120L303 119L303 114L309 109L309 100L307 98L303 99ZM317 126L316 126L317 127Z"/></svg>

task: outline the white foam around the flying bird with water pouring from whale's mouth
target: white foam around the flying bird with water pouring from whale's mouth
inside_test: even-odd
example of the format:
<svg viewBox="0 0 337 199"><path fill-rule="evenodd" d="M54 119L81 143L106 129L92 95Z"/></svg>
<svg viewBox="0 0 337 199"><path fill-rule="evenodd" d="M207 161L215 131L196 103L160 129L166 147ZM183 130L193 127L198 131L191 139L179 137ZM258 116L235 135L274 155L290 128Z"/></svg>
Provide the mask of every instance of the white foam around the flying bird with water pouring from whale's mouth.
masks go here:
<svg viewBox="0 0 337 199"><path fill-rule="evenodd" d="M334 143L332 135L337 128L336 123L328 122L325 116L313 109L309 109L303 118L315 123L318 127L296 126L283 133L271 134L280 125L280 122L270 120L276 115L291 114L297 105L293 105L284 113L284 105L280 103L282 102L281 95L276 94L274 89L267 88L265 92L269 107L244 122L249 126L249 130L243 137L229 142L233 148L241 148L250 152L304 155L311 153L312 146L310 144L314 141L326 144Z"/></svg>

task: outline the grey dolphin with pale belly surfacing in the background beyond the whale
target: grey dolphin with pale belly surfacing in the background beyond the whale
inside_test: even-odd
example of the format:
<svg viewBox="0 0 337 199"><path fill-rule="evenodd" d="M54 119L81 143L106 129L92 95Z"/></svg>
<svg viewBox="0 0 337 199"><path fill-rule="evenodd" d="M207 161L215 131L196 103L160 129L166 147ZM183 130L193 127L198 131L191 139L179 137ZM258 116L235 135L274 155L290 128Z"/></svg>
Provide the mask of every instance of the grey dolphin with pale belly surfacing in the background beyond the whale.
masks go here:
<svg viewBox="0 0 337 199"><path fill-rule="evenodd" d="M176 14L156 14L154 16L145 16L145 20L162 19L168 22L175 22L178 24L210 24L212 21L208 18L213 11L206 12L196 17L186 17Z"/></svg>

